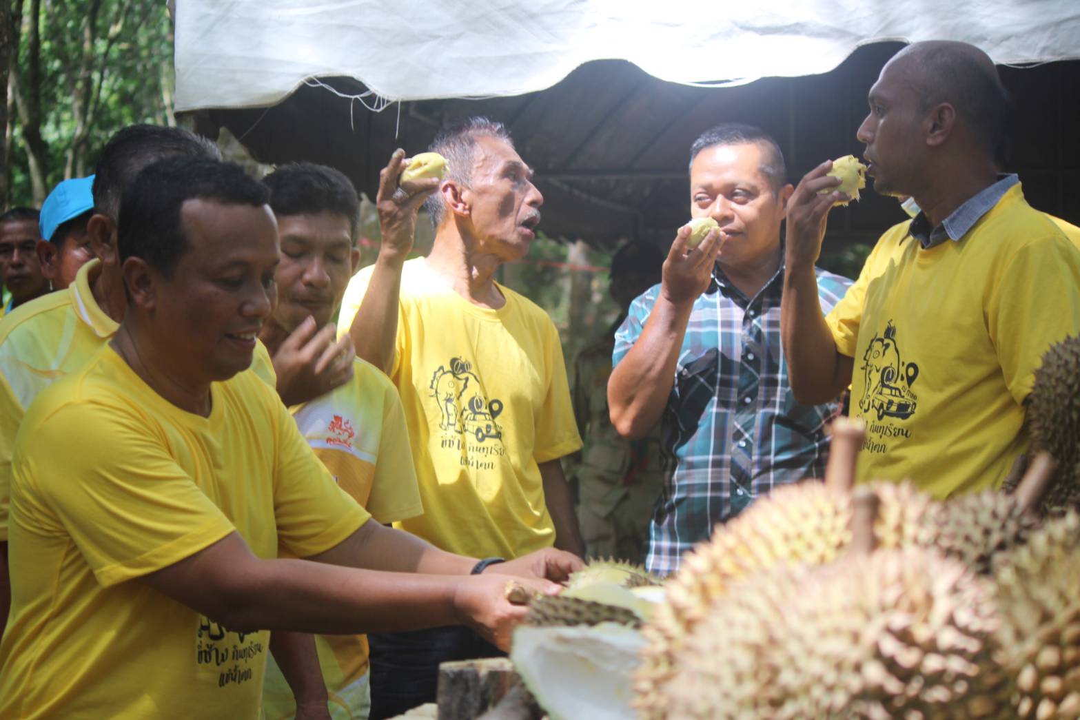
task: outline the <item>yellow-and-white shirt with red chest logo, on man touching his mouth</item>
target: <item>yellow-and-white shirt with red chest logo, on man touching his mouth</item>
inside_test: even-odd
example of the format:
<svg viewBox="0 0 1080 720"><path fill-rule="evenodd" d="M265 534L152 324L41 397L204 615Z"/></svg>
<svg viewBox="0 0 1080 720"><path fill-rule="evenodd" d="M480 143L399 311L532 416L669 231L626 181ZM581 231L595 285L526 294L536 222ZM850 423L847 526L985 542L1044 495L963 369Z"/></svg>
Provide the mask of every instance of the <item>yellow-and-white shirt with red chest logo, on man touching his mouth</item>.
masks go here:
<svg viewBox="0 0 1080 720"><path fill-rule="evenodd" d="M338 486L372 517L388 524L423 512L405 412L397 390L381 370L356 358L352 380L291 410L300 434ZM316 635L315 649L334 717L356 717L348 695L367 673L366 636ZM262 709L271 720L296 715L293 692L273 658L267 664Z"/></svg>

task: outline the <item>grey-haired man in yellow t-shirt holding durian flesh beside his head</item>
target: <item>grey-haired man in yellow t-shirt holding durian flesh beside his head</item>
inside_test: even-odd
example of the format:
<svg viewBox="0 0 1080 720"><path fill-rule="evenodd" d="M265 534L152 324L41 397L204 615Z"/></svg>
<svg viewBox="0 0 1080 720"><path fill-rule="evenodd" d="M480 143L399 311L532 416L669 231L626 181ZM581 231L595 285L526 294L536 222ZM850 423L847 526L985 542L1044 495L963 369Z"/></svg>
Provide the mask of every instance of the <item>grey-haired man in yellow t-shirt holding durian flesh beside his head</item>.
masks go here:
<svg viewBox="0 0 1080 720"><path fill-rule="evenodd" d="M543 198L498 123L474 118L431 149L448 160L441 181L399 188L402 150L382 171L379 257L349 284L339 321L402 395L424 512L395 527L455 553L580 555L559 459L581 439L558 332L495 281L528 253ZM426 199L434 246L406 261ZM492 651L458 628L370 642L373 718L433 699L440 662Z"/></svg>

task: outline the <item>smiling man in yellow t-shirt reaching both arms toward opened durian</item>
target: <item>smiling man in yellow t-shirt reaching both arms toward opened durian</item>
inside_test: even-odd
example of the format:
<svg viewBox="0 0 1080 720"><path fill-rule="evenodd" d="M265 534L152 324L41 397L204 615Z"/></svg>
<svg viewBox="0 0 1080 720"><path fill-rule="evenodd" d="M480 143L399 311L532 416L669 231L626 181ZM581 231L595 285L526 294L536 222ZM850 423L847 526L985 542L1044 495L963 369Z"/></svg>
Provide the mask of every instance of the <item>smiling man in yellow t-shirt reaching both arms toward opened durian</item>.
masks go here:
<svg viewBox="0 0 1080 720"><path fill-rule="evenodd" d="M368 522L245 371L274 296L266 201L240 166L183 158L124 192L124 318L16 438L0 717L255 718L268 630L465 622L505 646L524 615L483 561Z"/></svg>

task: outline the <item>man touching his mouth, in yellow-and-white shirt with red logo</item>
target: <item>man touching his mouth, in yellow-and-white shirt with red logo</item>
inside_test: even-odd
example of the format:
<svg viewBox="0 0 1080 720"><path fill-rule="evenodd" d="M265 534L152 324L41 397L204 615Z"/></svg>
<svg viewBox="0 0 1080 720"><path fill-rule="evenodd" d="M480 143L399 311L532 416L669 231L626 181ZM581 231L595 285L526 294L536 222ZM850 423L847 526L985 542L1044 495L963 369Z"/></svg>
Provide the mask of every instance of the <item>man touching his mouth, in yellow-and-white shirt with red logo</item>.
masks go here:
<svg viewBox="0 0 1080 720"><path fill-rule="evenodd" d="M281 263L274 273L278 305L259 338L271 353L295 337L330 325L360 260L360 199L349 179L323 165L279 167L262 179L278 220ZM423 512L413 470L408 430L397 390L372 364L355 359L346 384L289 410L300 434L338 486L379 522ZM367 718L367 639L319 635L315 647L336 720ZM293 692L278 664L267 663L262 711L268 720L296 715Z"/></svg>

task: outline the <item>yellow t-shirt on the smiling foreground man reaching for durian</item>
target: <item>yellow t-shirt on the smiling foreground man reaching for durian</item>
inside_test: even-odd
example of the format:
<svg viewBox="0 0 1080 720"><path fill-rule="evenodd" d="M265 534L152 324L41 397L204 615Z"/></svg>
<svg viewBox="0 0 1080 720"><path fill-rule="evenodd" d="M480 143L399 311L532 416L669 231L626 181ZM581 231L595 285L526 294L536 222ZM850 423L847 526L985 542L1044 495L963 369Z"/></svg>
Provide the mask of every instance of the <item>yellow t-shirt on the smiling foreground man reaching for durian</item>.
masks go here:
<svg viewBox="0 0 1080 720"><path fill-rule="evenodd" d="M43 392L15 441L12 610L0 717L255 718L269 633L240 633L131 582L238 531L307 557L369 515L252 371L203 418L110 347ZM63 451L58 451L58 450Z"/></svg>

